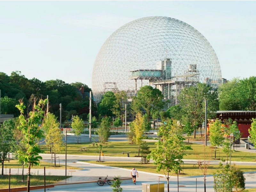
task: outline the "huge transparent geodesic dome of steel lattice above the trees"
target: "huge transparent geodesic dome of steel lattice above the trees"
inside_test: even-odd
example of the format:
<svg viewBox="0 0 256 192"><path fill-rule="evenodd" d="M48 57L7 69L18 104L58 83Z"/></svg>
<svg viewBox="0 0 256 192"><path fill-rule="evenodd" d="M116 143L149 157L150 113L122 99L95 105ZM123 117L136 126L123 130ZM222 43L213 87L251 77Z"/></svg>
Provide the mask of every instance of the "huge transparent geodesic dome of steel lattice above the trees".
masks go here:
<svg viewBox="0 0 256 192"><path fill-rule="evenodd" d="M96 102L107 91L133 96L148 84L177 104L181 89L198 82L221 84L219 60L201 33L169 17L145 17L117 29L100 48L92 72Z"/></svg>

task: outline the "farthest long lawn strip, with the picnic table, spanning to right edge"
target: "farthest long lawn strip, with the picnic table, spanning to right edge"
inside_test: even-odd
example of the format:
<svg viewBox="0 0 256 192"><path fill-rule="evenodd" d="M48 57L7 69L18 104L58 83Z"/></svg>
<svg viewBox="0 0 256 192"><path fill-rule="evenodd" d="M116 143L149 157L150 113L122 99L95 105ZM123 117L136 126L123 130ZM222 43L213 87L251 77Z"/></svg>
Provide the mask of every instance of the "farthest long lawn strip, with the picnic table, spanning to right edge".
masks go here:
<svg viewBox="0 0 256 192"><path fill-rule="evenodd" d="M148 146L150 150L155 148L155 142L148 141ZM68 144L67 145L67 153L71 155L92 155L96 156L97 153L99 154L99 149L96 146L90 146L91 143L84 143L84 144ZM185 143L185 145L188 145ZM188 150L185 152L186 156L184 159L204 159L204 146L199 144L189 144L191 145L193 150ZM89 150L86 152L81 152L79 149L81 147L88 147ZM49 149L42 146L45 153L49 153ZM138 145L136 144L129 144L127 141L111 141L108 144L103 144L103 149L105 156L127 156L126 153L122 152L130 152L130 157L138 155ZM64 154L65 151L62 152ZM116 155L113 155L116 154ZM228 155L229 156L229 155ZM205 146L205 157L207 160L214 159L214 149L210 148L209 146ZM222 152L222 148L217 148L216 152L216 159L226 158L226 154ZM250 161L254 162L256 158L256 154L250 152L242 152L242 151L234 151L231 154L232 161Z"/></svg>

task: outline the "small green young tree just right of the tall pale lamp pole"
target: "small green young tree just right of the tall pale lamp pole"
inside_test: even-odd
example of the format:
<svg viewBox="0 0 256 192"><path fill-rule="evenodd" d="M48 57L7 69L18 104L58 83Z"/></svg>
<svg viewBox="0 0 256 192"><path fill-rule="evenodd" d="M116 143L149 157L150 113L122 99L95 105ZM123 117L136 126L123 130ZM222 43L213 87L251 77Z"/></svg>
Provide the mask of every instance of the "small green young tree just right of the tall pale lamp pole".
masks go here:
<svg viewBox="0 0 256 192"><path fill-rule="evenodd" d="M110 137L111 122L112 122L111 117L105 117L101 120L100 128L98 128L98 130L97 130L100 143L105 143L108 141L108 139Z"/></svg>

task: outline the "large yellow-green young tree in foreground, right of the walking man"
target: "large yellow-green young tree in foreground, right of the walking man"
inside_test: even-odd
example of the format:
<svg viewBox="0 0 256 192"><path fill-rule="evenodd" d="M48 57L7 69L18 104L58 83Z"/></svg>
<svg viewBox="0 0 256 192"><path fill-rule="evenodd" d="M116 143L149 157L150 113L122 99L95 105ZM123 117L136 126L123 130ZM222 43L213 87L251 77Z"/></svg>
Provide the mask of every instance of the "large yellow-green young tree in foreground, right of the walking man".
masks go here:
<svg viewBox="0 0 256 192"><path fill-rule="evenodd" d="M159 140L155 145L156 148L151 151L149 157L154 160L156 171L163 170L167 180L167 191L169 192L169 179L173 173L178 173L184 151L191 149L190 146L183 144L184 138L179 134L177 126L173 121L169 121L167 125L159 128Z"/></svg>

